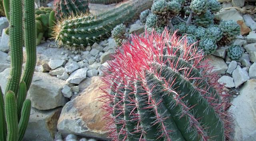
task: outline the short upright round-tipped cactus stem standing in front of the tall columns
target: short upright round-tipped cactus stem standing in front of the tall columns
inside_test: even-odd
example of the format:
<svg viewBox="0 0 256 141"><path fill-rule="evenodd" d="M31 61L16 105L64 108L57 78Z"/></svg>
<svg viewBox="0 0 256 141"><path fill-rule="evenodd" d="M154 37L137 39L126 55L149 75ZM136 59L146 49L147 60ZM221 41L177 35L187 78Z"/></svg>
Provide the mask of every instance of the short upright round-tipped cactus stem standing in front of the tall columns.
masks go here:
<svg viewBox="0 0 256 141"><path fill-rule="evenodd" d="M4 95L5 115L7 123L6 141L18 141L17 106L13 91L7 91Z"/></svg>

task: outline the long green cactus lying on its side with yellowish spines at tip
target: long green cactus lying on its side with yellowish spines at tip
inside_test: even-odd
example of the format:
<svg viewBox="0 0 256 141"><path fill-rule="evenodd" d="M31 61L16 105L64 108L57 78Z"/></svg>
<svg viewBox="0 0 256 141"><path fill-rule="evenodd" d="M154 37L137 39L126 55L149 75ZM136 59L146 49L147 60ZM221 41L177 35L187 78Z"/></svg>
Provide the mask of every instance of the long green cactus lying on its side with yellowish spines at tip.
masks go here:
<svg viewBox="0 0 256 141"><path fill-rule="evenodd" d="M54 28L54 38L67 48L84 49L102 38L109 37L116 25L130 22L151 4L148 0L129 0L98 16L70 17Z"/></svg>

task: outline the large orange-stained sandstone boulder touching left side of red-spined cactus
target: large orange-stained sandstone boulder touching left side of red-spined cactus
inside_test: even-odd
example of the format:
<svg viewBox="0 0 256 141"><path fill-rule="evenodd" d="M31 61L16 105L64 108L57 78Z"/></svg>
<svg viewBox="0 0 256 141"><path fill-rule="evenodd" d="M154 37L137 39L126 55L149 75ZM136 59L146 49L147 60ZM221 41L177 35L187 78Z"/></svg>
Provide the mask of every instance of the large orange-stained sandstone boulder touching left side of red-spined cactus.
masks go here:
<svg viewBox="0 0 256 141"><path fill-rule="evenodd" d="M102 119L105 112L101 109L102 102L97 98L102 94L99 87L103 84L99 77L92 77L91 82L80 96L63 107L57 128L63 135L76 134L108 140L104 128L106 121Z"/></svg>

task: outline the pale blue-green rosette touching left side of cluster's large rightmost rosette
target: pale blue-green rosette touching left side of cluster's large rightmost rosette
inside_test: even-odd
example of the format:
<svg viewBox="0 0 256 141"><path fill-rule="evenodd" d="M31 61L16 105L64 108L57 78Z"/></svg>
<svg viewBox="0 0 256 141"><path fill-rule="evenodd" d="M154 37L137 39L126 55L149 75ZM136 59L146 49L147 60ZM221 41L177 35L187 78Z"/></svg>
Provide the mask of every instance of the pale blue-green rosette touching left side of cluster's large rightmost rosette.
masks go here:
<svg viewBox="0 0 256 141"><path fill-rule="evenodd" d="M220 30L220 28L217 25L215 25L207 28L205 35L206 37L215 38L216 41L218 42L222 38L223 32Z"/></svg>

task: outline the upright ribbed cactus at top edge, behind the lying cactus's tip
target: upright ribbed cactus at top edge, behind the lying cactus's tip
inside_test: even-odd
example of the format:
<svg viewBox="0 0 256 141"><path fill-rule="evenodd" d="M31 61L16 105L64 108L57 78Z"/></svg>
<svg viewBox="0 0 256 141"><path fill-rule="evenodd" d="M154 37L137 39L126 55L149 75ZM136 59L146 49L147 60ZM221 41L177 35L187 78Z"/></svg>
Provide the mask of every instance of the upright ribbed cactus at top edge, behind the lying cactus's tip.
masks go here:
<svg viewBox="0 0 256 141"><path fill-rule="evenodd" d="M88 12L88 0L55 0L54 10L58 18L76 16Z"/></svg>

